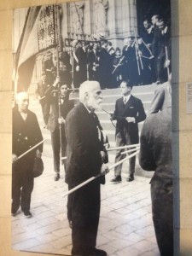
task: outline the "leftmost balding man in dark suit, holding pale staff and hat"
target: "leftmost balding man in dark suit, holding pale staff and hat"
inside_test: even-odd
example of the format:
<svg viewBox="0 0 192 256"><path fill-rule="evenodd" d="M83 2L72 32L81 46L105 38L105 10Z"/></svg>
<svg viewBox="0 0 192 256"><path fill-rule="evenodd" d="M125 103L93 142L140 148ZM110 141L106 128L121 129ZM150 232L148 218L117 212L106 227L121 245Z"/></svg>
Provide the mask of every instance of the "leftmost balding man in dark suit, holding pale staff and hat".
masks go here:
<svg viewBox="0 0 192 256"><path fill-rule="evenodd" d="M28 149L43 140L38 119L28 109L29 97L26 92L16 96L17 106L13 110L13 143L12 143L12 216L18 213L19 207L26 218L31 218L31 195L34 183L32 168L35 158L41 158L43 144L18 159Z"/></svg>

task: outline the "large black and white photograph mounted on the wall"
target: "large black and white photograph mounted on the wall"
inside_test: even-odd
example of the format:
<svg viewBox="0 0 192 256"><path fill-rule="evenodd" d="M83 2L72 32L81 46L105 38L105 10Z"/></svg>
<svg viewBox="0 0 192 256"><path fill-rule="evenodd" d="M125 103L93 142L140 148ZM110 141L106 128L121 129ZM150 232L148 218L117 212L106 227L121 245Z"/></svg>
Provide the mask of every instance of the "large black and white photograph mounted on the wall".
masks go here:
<svg viewBox="0 0 192 256"><path fill-rule="evenodd" d="M13 12L14 250L172 256L170 0Z"/></svg>

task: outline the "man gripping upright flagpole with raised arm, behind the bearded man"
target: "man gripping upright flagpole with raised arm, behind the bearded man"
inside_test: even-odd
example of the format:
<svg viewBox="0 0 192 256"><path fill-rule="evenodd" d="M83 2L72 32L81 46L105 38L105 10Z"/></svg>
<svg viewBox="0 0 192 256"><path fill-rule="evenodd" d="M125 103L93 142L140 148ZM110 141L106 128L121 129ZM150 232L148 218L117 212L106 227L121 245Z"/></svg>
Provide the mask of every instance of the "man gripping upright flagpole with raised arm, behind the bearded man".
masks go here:
<svg viewBox="0 0 192 256"><path fill-rule="evenodd" d="M67 84L61 84L61 87L58 88L59 82L59 78L55 79L55 83L49 86L48 90L45 91L45 96L48 98L51 105L47 128L49 129L51 135L51 145L54 157L55 181L58 181L60 178L60 152L62 154L62 157L66 155L67 140L65 135L65 119L67 117L67 113L69 113L69 111L74 106L73 101L69 101ZM61 91L61 98L58 98L57 90ZM61 104L61 117L59 116L58 102L60 102ZM61 133L59 124L61 125ZM66 161L63 162L64 167L66 168Z"/></svg>

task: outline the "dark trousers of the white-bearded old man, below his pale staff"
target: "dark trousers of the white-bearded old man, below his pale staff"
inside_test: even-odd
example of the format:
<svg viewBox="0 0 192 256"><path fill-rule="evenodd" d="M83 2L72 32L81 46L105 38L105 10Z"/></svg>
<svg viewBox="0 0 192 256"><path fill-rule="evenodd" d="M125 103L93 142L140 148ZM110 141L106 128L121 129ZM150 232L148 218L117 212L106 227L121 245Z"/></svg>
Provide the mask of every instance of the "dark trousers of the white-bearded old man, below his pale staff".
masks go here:
<svg viewBox="0 0 192 256"><path fill-rule="evenodd" d="M96 236L100 215L100 183L94 180L73 192L72 211L72 255L89 255L96 247Z"/></svg>

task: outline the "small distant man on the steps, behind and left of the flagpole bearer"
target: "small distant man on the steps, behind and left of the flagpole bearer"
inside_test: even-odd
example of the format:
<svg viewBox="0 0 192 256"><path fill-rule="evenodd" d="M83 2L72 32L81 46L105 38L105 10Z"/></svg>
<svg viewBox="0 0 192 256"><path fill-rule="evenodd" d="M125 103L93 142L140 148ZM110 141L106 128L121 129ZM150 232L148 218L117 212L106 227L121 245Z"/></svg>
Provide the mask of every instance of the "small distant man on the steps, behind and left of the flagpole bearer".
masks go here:
<svg viewBox="0 0 192 256"><path fill-rule="evenodd" d="M44 91L47 90L49 87L48 81L46 79L46 73L42 72L42 79L38 82L38 88L36 93L38 94L38 101L41 104L43 118L44 118L44 125L47 126L47 122L49 119L49 112L50 112L50 103L44 96Z"/></svg>

